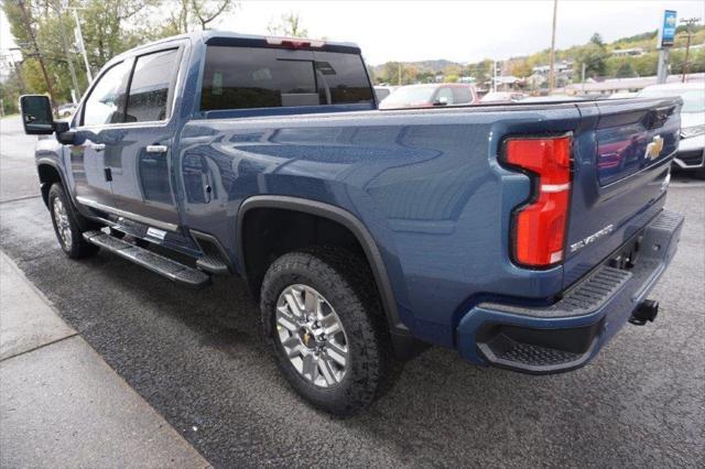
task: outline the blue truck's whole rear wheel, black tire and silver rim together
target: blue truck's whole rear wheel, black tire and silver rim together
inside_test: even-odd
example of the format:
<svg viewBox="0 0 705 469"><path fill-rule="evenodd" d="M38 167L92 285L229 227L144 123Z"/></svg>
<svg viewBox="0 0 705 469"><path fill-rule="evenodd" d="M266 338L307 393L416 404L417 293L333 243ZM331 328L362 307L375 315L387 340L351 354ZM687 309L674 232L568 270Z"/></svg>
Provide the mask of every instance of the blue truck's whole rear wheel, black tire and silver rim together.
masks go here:
<svg viewBox="0 0 705 469"><path fill-rule="evenodd" d="M292 252L269 268L262 323L289 383L314 406L351 415L378 394L389 338L371 272L347 251Z"/></svg>

